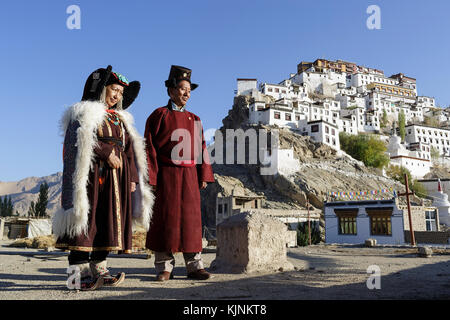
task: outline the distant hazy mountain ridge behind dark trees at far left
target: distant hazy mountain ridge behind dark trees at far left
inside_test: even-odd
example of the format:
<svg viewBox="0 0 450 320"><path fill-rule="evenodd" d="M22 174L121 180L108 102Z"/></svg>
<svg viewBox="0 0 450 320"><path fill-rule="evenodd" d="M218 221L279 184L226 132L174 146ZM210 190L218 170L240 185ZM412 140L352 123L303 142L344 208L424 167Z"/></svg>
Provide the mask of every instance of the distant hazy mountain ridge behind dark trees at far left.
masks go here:
<svg viewBox="0 0 450 320"><path fill-rule="evenodd" d="M26 216L31 201L37 201L39 188L44 182L49 187L47 213L53 215L61 207L62 172L45 177L28 177L16 182L0 181L0 196L10 196L14 213L17 211L20 216Z"/></svg>

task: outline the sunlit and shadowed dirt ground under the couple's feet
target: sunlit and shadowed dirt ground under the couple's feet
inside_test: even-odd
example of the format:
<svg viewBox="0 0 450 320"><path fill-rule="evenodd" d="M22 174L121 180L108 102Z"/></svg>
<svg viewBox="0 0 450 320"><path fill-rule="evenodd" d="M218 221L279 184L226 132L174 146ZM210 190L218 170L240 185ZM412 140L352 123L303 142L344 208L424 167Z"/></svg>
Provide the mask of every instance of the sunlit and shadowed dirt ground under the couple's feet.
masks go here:
<svg viewBox="0 0 450 320"><path fill-rule="evenodd" d="M153 257L112 254L111 271L124 271L125 282L117 288L77 293L66 288L67 252L7 247L10 243L0 241L0 300L450 299L449 249L422 258L414 248L289 248L294 271L214 274L207 281L187 280L182 255L176 254L175 279L165 283L154 281ZM215 250L205 251L209 267ZM380 289L367 287L371 265L379 267Z"/></svg>

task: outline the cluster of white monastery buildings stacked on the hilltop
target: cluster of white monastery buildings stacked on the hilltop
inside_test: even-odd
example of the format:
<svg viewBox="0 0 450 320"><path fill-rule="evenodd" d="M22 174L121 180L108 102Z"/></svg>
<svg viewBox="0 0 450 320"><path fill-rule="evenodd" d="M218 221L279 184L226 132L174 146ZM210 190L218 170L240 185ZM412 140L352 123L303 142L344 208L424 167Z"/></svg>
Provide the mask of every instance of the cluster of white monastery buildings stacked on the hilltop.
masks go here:
<svg viewBox="0 0 450 320"><path fill-rule="evenodd" d="M403 112L408 124L406 142L414 149L410 148L409 152L417 151L417 159L410 159L408 165L414 162L415 166L422 161L417 166L426 167L426 158L419 153L430 150L418 148L435 147L450 155L449 129L425 129L418 124L425 117L435 115L435 99L418 96L416 79L403 73L388 77L382 70L352 62L317 59L300 62L297 73L291 73L288 79L277 84L258 85L257 79L239 78L235 93L251 97L250 124L290 128L336 150L340 150L340 132L379 133L383 118L397 120ZM442 111L439 120L450 127L449 110L439 108L438 111ZM428 131L432 134L427 135ZM434 131L438 134L432 136ZM406 165L405 159L411 155L402 153L405 151L393 156L398 157L394 158L395 162L403 165L404 161ZM422 171L418 176L421 174Z"/></svg>

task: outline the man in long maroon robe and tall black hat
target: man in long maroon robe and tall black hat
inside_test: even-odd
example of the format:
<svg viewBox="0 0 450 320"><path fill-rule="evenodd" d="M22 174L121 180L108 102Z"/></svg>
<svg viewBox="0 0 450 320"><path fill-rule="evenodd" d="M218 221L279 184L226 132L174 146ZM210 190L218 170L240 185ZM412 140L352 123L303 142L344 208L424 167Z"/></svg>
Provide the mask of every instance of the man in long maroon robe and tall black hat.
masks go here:
<svg viewBox="0 0 450 320"><path fill-rule="evenodd" d="M183 252L190 279L210 278L203 266L200 189L214 182L200 118L186 110L191 70L172 66L165 82L170 100L145 126L149 183L156 189L146 247L155 253L157 281L173 278L174 252Z"/></svg>

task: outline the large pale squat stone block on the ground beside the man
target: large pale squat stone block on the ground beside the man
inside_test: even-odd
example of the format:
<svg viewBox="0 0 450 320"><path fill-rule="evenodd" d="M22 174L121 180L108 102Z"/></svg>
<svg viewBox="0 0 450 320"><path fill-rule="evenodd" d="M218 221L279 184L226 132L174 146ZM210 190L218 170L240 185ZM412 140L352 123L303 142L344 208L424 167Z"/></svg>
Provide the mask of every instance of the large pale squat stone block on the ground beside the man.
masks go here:
<svg viewBox="0 0 450 320"><path fill-rule="evenodd" d="M242 212L217 226L217 255L211 270L251 273L293 270L287 260L287 226L262 213Z"/></svg>

